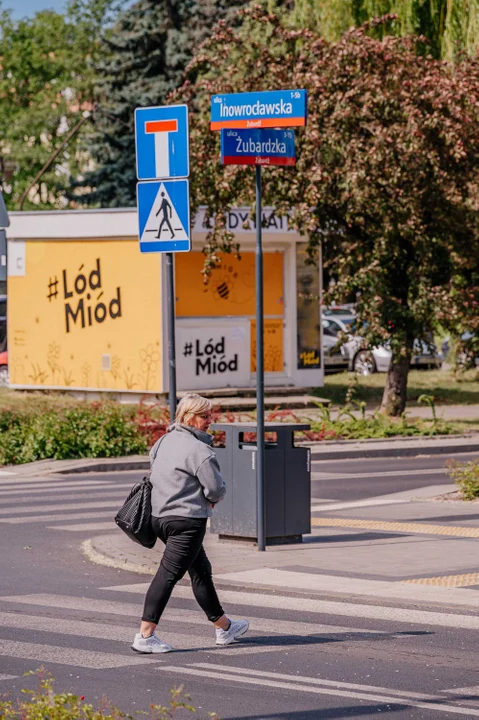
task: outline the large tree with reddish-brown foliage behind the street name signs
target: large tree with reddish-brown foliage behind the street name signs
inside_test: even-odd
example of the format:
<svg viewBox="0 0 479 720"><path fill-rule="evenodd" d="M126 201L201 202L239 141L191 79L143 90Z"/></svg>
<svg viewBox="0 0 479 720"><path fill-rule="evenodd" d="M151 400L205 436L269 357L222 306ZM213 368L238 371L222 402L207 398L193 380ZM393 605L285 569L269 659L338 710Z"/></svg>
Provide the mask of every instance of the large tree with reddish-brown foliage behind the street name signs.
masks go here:
<svg viewBox="0 0 479 720"><path fill-rule="evenodd" d="M216 215L208 270L217 252L238 250L225 212L254 200L251 169L220 165L210 96L308 90L296 168L264 169L264 201L290 213L312 259L322 243L335 279L326 301L356 297L366 341L390 345L382 407L397 415L414 340L427 340L465 294L470 312L477 306L479 59L464 58L453 70L418 55L417 39L378 40L369 27L328 43L250 9L237 29L220 23L171 99L195 110L192 195Z"/></svg>

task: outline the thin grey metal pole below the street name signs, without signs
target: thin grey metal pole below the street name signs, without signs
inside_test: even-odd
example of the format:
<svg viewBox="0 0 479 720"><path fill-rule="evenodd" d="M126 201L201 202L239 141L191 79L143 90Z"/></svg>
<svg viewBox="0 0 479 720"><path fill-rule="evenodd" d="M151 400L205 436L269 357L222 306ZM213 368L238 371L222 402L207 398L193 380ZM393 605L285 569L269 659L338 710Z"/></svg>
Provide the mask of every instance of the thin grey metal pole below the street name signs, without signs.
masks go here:
<svg viewBox="0 0 479 720"><path fill-rule="evenodd" d="M258 550L266 549L264 508L264 313L263 246L261 226L261 165L256 165L256 484Z"/></svg>

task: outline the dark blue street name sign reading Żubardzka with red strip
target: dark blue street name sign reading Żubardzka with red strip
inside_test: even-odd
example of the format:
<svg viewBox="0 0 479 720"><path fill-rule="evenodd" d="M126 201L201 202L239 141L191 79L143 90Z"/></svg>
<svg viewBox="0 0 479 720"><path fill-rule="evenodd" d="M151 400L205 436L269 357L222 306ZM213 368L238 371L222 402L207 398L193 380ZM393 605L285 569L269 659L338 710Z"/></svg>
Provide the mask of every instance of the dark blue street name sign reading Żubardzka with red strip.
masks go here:
<svg viewBox="0 0 479 720"><path fill-rule="evenodd" d="M223 165L296 165L294 130L221 130Z"/></svg>

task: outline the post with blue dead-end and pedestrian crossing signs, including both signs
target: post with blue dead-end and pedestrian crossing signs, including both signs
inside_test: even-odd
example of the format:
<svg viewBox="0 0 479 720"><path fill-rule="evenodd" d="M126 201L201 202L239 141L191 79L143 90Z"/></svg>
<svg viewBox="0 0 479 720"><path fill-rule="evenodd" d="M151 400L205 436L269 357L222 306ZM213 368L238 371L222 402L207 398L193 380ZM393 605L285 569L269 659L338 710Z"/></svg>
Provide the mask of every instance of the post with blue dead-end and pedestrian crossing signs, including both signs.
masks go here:
<svg viewBox="0 0 479 720"><path fill-rule="evenodd" d="M173 422L176 412L173 253L191 249L188 106L137 108L135 147L137 178L150 181L137 183L140 252L166 253L169 405Z"/></svg>

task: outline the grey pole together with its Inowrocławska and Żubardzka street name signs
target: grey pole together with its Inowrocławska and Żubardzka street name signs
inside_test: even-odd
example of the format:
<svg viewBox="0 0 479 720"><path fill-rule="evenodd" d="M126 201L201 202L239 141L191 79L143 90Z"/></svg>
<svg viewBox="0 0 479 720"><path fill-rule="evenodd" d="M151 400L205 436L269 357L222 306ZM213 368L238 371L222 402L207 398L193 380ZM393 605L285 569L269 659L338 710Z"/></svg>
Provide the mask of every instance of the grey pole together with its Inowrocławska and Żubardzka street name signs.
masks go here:
<svg viewBox="0 0 479 720"><path fill-rule="evenodd" d="M306 90L213 95L210 129L221 130L221 162L256 166L256 478L258 550L266 549L264 501L264 276L262 244L261 166L294 165L294 133L279 148L269 128L306 125ZM267 128L267 129L265 129ZM274 148L274 149L273 149ZM291 162L294 160L294 162Z"/></svg>

